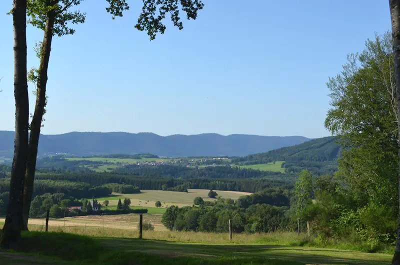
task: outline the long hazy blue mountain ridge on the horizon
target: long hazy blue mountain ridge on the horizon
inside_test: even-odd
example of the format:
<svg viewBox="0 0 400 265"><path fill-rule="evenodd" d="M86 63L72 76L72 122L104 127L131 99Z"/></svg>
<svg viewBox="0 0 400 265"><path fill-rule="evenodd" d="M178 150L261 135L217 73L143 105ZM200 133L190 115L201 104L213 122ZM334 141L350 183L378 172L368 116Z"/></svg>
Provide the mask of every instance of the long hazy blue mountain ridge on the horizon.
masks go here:
<svg viewBox="0 0 400 265"><path fill-rule="evenodd" d="M40 135L39 155L152 153L159 156L243 156L308 141L303 136L220 135L203 133L160 136L150 132L68 132ZM0 131L0 157L13 153L13 131Z"/></svg>

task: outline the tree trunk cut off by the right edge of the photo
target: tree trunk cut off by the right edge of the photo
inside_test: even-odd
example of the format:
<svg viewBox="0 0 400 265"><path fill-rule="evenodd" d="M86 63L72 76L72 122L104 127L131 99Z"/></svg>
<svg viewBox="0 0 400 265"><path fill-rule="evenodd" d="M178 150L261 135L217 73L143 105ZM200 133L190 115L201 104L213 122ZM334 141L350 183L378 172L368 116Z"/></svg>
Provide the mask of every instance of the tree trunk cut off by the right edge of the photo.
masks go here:
<svg viewBox="0 0 400 265"><path fill-rule="evenodd" d="M394 53L394 70L396 75L396 97L397 97L397 118L400 119L400 0L389 0L391 16L391 32ZM400 122L397 120L400 128ZM400 129L398 130L400 140ZM398 148L398 227L396 248L394 251L392 264L400 264L400 148Z"/></svg>

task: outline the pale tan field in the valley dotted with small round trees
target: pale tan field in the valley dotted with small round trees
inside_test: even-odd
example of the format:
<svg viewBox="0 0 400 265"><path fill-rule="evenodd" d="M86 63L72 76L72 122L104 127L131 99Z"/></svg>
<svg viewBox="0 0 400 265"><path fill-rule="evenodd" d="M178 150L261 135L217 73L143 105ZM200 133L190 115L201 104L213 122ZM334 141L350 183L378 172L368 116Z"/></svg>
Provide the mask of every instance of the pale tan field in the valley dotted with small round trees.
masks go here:
<svg viewBox="0 0 400 265"><path fill-rule="evenodd" d="M155 202L159 200L161 202L161 207L166 207L170 205L177 205L179 207L186 205L193 205L193 199L195 197L202 197L204 200L215 200L214 198L208 197L208 189L188 189L188 192L178 192L178 191L164 191L164 190L141 190L140 193L133 194L121 194L112 193L110 197L101 197L97 200L102 203L104 200L109 201L109 205L116 205L118 199L123 199L125 197L130 198L130 205L132 206L142 206L142 207L154 207ZM222 198L237 199L240 196L248 195L248 192L239 191L224 191L215 190L218 196Z"/></svg>

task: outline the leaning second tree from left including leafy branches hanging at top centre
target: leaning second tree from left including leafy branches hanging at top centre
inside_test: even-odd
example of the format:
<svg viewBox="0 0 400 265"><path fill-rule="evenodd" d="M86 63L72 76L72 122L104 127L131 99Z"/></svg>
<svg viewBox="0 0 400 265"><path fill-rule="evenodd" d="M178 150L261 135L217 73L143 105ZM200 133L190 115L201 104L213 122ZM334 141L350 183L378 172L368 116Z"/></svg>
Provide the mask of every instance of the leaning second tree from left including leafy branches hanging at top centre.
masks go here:
<svg viewBox="0 0 400 265"><path fill-rule="evenodd" d="M73 6L79 5L80 2L81 0L31 0L27 6L30 17L28 22L42 29L44 35L37 49L37 55L40 58L39 68L32 68L29 72L29 79L36 84L36 103L30 123L29 151L23 193L23 229L27 229L40 128L47 101L45 93L52 36L54 34L57 36L73 34L75 30L68 27L67 22L72 24L84 22L84 13L69 11ZM129 5L125 0L107 0L107 2L109 7L106 8L106 11L113 18L122 16L123 11L129 9ZM166 27L162 20L165 18L166 13L170 13L173 24L182 29L183 24L179 17L179 4L180 8L186 12L187 19L195 19L197 11L203 7L201 0L146 0L143 1L142 12L135 28L140 31L146 30L150 39L154 39L157 32L164 33Z"/></svg>

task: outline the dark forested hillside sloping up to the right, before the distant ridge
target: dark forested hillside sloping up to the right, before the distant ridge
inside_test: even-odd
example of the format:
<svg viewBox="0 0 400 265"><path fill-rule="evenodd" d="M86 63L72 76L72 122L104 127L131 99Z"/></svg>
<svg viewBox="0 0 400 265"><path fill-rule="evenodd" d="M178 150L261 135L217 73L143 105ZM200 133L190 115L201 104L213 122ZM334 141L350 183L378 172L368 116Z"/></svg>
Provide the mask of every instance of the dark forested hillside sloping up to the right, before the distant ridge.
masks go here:
<svg viewBox="0 0 400 265"><path fill-rule="evenodd" d="M297 172L306 168L316 174L325 174L337 169L340 150L335 137L323 137L268 152L233 158L232 162L249 165L284 161L283 167L287 172Z"/></svg>

